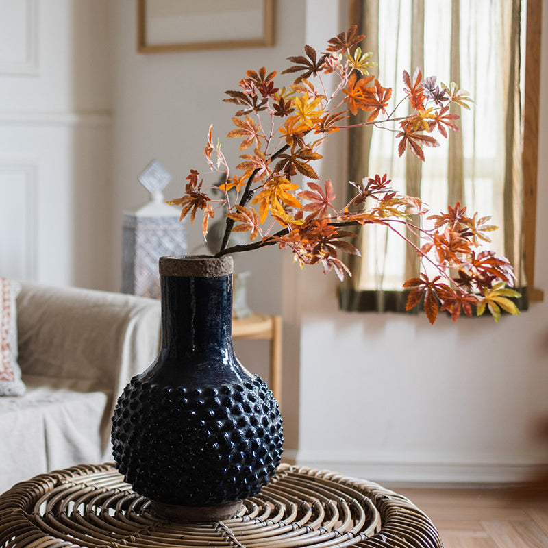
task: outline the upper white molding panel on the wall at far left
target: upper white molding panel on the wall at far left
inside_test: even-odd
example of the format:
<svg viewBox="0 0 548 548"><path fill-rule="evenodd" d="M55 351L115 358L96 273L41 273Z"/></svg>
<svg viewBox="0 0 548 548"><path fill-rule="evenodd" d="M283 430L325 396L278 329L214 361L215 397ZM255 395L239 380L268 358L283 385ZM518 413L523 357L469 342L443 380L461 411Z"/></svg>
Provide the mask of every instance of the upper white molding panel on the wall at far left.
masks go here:
<svg viewBox="0 0 548 548"><path fill-rule="evenodd" d="M0 0L0 75L38 75L38 1Z"/></svg>

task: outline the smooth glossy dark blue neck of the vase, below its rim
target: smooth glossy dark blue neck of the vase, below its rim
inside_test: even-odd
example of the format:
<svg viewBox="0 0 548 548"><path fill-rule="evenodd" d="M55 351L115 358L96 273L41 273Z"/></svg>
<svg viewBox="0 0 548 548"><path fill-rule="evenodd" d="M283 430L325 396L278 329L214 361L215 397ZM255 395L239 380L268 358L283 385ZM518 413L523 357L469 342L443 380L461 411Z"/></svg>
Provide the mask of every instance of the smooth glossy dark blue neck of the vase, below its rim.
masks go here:
<svg viewBox="0 0 548 548"><path fill-rule="evenodd" d="M162 275L162 349L171 356L232 349L232 276Z"/></svg>

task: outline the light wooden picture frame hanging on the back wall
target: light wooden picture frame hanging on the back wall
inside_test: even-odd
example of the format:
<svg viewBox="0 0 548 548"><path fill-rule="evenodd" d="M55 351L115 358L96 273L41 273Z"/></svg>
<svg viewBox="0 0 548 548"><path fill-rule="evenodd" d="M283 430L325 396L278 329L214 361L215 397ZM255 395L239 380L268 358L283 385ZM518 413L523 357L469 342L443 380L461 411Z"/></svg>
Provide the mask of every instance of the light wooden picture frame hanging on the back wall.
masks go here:
<svg viewBox="0 0 548 548"><path fill-rule="evenodd" d="M269 47L275 0L137 0L137 51Z"/></svg>

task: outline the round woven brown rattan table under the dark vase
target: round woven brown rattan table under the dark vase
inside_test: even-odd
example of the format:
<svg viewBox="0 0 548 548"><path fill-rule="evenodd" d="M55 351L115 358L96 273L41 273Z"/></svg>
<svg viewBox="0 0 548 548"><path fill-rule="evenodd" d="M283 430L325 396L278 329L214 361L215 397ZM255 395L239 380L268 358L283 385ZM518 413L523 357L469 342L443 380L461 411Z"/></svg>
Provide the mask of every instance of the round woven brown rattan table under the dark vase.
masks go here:
<svg viewBox="0 0 548 548"><path fill-rule="evenodd" d="M428 517L378 484L279 466L234 519L175 523L123 482L112 464L39 475L0 496L1 548L441 547Z"/></svg>

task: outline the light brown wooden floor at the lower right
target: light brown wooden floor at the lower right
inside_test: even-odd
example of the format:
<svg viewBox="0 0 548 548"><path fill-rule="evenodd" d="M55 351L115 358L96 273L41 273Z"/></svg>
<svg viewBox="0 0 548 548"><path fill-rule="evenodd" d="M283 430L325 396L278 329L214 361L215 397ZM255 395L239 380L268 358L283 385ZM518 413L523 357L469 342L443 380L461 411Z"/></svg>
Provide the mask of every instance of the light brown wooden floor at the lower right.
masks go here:
<svg viewBox="0 0 548 548"><path fill-rule="evenodd" d="M548 548L548 495L503 488L394 488L436 525L445 548Z"/></svg>

